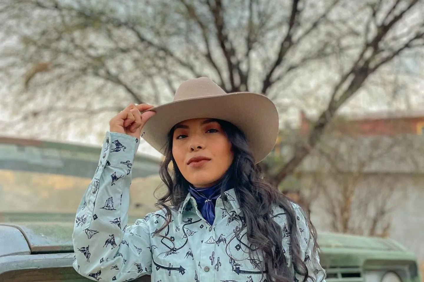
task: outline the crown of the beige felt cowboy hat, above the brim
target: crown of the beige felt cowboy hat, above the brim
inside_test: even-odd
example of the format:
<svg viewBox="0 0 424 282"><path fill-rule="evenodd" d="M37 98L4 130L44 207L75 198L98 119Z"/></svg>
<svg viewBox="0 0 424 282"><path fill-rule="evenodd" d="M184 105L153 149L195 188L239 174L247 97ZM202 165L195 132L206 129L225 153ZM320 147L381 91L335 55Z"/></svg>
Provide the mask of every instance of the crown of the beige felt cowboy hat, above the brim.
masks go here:
<svg viewBox="0 0 424 282"><path fill-rule="evenodd" d="M174 95L174 102L227 94L212 79L207 77L189 79L181 83Z"/></svg>

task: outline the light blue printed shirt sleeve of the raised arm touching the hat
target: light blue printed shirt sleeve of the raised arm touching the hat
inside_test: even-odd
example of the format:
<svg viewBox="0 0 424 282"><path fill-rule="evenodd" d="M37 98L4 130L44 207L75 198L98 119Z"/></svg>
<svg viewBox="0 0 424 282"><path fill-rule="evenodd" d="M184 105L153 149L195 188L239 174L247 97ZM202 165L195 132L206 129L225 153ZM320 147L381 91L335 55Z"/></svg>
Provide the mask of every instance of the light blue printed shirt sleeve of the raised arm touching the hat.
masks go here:
<svg viewBox="0 0 424 282"><path fill-rule="evenodd" d="M97 170L78 207L73 268L89 279L120 282L151 274L150 215L126 226L138 145L138 138L106 133Z"/></svg>

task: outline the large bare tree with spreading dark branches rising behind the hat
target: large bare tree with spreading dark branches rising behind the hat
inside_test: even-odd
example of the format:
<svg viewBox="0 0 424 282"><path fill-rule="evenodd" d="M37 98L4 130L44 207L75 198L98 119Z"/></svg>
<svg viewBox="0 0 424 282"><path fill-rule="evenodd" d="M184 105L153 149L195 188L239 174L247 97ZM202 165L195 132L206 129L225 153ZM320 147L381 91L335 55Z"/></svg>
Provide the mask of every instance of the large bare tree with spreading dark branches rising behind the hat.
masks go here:
<svg viewBox="0 0 424 282"><path fill-rule="evenodd" d="M283 110L293 99L284 102L281 89L325 65L328 97L304 144L270 176L279 184L368 77L422 47L421 14L420 0L5 0L0 69L4 81L24 77L23 91L7 79L20 95L12 101L41 95L52 104L27 109L12 122L19 123L55 111L116 111L94 107L93 92L118 108L117 101L162 103L182 80L202 75L227 92L268 95Z"/></svg>

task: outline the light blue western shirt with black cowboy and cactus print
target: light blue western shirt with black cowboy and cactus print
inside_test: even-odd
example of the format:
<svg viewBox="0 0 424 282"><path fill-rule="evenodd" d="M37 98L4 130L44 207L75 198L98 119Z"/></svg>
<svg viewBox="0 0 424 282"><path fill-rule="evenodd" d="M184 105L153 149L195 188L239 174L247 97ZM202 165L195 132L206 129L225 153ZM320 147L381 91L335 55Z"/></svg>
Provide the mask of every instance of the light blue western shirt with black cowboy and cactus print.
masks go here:
<svg viewBox="0 0 424 282"><path fill-rule="evenodd" d="M217 199L212 226L189 194L179 209L172 210L169 226L159 234L155 231L167 219L164 210L149 213L127 227L131 168L139 144L135 140L125 134L106 134L100 154L100 158L105 155L103 164L99 162L75 217L75 270L95 281L124 282L148 274L156 282L200 282L211 281L211 277L214 281L265 282L262 259L254 250L254 257L249 257L251 246L245 230L240 232L244 218L234 189ZM310 274L320 282L324 269L311 253L304 215L298 206L295 211L301 256ZM292 232L287 229L284 211L275 209L273 220L282 227L283 248L290 250ZM285 255L291 265L288 253Z"/></svg>

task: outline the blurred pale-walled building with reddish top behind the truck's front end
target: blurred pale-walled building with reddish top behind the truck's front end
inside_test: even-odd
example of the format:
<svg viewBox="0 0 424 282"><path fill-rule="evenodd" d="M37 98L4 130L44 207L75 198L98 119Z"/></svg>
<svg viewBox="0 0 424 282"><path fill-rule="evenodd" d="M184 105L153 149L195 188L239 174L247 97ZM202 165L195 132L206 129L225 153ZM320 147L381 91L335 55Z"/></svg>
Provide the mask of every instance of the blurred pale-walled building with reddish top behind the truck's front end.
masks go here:
<svg viewBox="0 0 424 282"><path fill-rule="evenodd" d="M271 158L285 162L314 120L282 131ZM424 261L424 112L338 116L281 184L318 230L391 237Z"/></svg>

